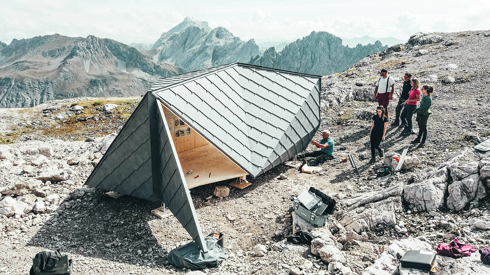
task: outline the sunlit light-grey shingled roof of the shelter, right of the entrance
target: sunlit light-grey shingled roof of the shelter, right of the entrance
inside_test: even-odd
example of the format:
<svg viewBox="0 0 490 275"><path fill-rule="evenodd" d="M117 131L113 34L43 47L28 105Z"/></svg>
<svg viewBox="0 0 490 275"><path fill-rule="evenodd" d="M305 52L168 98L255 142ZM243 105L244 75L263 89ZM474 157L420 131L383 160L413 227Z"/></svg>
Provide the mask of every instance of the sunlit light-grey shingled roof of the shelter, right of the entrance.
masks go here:
<svg viewBox="0 0 490 275"><path fill-rule="evenodd" d="M149 92L255 177L308 146L320 123L320 80L233 63L163 78Z"/></svg>

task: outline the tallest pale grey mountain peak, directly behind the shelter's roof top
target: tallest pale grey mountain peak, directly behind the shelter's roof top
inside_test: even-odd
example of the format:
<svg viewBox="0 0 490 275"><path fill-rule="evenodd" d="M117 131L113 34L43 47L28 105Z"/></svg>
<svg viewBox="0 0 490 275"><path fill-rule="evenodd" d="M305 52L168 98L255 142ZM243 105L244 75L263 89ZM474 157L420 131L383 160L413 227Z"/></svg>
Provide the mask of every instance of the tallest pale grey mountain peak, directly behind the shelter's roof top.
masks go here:
<svg viewBox="0 0 490 275"><path fill-rule="evenodd" d="M155 60L194 71L217 65L248 62L259 54L253 39L242 41L224 27L211 29L206 21L186 17L146 51Z"/></svg>

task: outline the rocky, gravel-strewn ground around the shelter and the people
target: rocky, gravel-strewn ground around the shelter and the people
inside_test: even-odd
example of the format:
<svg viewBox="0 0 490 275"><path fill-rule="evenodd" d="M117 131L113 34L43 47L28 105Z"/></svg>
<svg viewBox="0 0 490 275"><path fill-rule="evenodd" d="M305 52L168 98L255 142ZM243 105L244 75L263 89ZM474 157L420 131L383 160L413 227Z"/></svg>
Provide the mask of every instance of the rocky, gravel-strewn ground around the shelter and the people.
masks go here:
<svg viewBox="0 0 490 275"><path fill-rule="evenodd" d="M203 272L417 274L399 271L396 254L433 251L454 237L477 249L490 247L490 155L472 148L490 138L489 34L414 36L323 77L320 129L329 128L347 150L337 146L337 159L321 164L319 173L278 166L249 179L244 190L230 187L224 198L206 199L226 182L192 189L203 232L225 234L226 259ZM395 77L398 92L406 71L436 86L426 146L411 147L407 164L394 175L385 166L396 165L393 154L415 138L400 136L401 129L389 127L384 159L374 165L362 159L377 105L370 100L373 83L382 67ZM175 218L150 213L159 203L112 199L83 186L138 101L79 98L0 110L0 249L7 252L0 254L0 274L26 274L31 257L46 249L70 254L75 275L188 273L166 259L189 240ZM360 176L342 162L348 151ZM337 201L323 228L312 229L291 212L290 195L310 186ZM300 228L319 238L311 246L285 241ZM436 274L490 273L478 252L437 261Z"/></svg>

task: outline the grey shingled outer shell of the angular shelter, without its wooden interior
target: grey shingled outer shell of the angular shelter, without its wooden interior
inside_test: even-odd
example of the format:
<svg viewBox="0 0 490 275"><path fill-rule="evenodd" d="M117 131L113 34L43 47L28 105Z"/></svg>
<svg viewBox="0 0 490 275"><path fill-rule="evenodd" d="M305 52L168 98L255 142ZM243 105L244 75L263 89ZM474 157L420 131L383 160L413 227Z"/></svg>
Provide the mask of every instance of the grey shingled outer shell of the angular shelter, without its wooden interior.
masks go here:
<svg viewBox="0 0 490 275"><path fill-rule="evenodd" d="M160 103L255 177L308 146L320 124L320 79L244 63L160 79L85 184L163 201L206 251Z"/></svg>

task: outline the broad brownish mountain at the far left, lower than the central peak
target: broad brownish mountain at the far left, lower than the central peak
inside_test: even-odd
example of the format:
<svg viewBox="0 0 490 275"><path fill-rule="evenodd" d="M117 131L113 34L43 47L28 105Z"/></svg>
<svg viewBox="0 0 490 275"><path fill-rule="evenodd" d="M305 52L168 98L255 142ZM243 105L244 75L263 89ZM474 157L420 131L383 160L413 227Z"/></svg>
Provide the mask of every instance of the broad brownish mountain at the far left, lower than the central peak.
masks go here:
<svg viewBox="0 0 490 275"><path fill-rule="evenodd" d="M59 34L14 39L0 46L0 106L32 106L32 86L36 103L140 95L158 78L183 72L111 39Z"/></svg>

